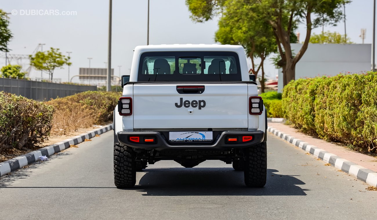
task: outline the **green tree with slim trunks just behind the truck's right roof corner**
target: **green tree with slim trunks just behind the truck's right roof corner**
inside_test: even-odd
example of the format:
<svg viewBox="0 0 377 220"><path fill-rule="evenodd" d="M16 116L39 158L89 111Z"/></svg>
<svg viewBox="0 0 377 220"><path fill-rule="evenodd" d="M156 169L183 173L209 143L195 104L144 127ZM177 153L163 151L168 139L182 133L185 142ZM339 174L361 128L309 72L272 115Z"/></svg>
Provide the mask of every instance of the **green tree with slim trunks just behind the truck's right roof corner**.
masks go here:
<svg viewBox="0 0 377 220"><path fill-rule="evenodd" d="M222 44L239 44L246 49L251 59L253 74L257 77L259 71L262 71L262 76L258 78L261 92L264 93L264 61L268 55L276 52L277 46L272 28L264 25L257 14L250 11L242 2L242 0L224 2L226 10L219 20L215 40ZM259 65L256 64L255 58L261 59Z"/></svg>

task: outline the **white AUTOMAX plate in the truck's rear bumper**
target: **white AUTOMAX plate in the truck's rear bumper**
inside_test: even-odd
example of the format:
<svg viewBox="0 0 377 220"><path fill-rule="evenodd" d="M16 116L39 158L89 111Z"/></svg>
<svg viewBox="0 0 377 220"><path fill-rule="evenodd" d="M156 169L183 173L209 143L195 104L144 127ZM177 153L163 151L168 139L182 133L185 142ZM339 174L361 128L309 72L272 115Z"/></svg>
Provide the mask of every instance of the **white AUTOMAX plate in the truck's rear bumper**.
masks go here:
<svg viewBox="0 0 377 220"><path fill-rule="evenodd" d="M211 131L171 131L170 142L200 142L213 141Z"/></svg>

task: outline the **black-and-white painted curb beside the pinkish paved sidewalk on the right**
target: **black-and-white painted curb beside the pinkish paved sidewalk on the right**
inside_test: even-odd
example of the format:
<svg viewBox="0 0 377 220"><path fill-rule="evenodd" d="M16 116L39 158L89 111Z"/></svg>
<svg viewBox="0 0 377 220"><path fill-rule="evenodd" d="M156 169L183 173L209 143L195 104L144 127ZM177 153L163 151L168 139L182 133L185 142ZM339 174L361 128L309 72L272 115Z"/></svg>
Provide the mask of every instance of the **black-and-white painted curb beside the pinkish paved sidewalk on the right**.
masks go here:
<svg viewBox="0 0 377 220"><path fill-rule="evenodd" d="M306 152L312 154L316 158L322 159L324 162L333 165L335 168L348 173L350 176L357 178L361 181L366 182L366 184L373 187L377 187L377 173L373 170L369 170L365 167L355 164L354 162L348 161L346 159L340 158L339 156L329 153L319 147L310 145L309 143L297 139L291 135L285 134L280 130L273 127L267 127L268 132L276 135L277 137L293 144L305 150Z"/></svg>

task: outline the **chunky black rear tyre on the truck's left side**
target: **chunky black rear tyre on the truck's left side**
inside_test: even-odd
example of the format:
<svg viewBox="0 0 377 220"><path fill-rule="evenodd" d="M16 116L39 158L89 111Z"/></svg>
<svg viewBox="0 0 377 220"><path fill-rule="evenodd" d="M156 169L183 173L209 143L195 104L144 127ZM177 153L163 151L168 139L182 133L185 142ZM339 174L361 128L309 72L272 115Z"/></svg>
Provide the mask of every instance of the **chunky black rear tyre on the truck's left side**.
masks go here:
<svg viewBox="0 0 377 220"><path fill-rule="evenodd" d="M114 143L114 183L116 188L130 188L136 184L136 164L133 151L121 143Z"/></svg>

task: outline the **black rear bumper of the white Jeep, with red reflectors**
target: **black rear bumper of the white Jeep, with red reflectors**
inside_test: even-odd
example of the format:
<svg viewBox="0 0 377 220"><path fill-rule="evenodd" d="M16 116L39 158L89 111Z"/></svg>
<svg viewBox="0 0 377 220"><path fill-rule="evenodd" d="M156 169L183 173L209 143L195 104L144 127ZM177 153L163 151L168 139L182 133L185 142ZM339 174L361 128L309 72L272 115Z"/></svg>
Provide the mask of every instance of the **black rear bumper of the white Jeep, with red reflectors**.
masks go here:
<svg viewBox="0 0 377 220"><path fill-rule="evenodd" d="M130 137L140 137L140 142L135 143L130 141ZM242 142L239 140L237 143L228 142L227 138L230 137L242 137L242 136L252 136L252 140L248 142ZM245 148L250 147L255 144L259 144L264 139L264 131L223 131L220 132L218 137L211 143L170 143L162 132L118 132L118 141L126 146L137 148L137 149L155 149L155 150L165 150L165 149L233 149L233 148ZM144 139L154 138L153 143L146 143Z"/></svg>

